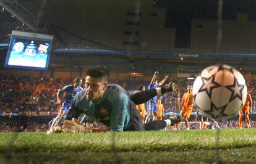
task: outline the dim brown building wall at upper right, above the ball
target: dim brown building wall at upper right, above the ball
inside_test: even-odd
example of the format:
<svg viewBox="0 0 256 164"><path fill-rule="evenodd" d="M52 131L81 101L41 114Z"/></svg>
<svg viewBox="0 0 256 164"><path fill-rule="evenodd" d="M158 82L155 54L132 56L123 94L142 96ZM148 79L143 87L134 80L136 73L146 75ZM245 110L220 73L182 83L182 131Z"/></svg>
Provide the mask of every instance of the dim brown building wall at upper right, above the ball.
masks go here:
<svg viewBox="0 0 256 164"><path fill-rule="evenodd" d="M218 20L192 20L190 50L216 51ZM237 14L236 21L223 20L220 49L225 52L255 52L256 23L247 14Z"/></svg>

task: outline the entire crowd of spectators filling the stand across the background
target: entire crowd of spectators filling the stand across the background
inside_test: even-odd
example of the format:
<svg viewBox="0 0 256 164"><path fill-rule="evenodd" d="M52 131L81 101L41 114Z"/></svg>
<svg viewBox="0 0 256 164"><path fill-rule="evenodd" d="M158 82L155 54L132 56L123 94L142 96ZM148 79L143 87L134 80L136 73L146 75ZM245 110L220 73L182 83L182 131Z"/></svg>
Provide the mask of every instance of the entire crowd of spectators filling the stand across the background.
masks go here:
<svg viewBox="0 0 256 164"><path fill-rule="evenodd" d="M54 79L51 77L31 78L30 76L0 75L0 111L20 112L52 112L58 111L56 93L67 84L73 84L74 79ZM193 80L179 81L177 92L169 92L160 96L165 112L177 112L182 95L187 92L187 85ZM120 84L128 92L136 92L140 84L147 88L149 81L111 80L111 83ZM176 81L177 83L177 81ZM82 85L83 86L83 85ZM252 95L255 110L256 91L255 80L247 80L248 92ZM129 90L135 89L135 90Z"/></svg>

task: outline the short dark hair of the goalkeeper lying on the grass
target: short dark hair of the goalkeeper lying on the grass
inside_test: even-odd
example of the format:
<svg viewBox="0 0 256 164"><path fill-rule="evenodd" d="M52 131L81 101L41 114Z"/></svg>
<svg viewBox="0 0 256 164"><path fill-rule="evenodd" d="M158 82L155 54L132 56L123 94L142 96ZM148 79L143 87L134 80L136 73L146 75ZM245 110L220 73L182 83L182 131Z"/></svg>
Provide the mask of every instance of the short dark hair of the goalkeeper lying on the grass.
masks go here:
<svg viewBox="0 0 256 164"><path fill-rule="evenodd" d="M95 67L87 70L87 76L92 78L99 78L104 81L108 81L108 71L104 67Z"/></svg>

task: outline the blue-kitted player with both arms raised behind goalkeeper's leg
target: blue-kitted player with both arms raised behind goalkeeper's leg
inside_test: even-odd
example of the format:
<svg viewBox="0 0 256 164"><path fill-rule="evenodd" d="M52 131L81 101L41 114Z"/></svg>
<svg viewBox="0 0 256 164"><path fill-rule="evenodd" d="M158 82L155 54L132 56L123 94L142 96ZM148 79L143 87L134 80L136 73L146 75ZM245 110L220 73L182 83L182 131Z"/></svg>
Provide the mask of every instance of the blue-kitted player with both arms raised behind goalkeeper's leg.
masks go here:
<svg viewBox="0 0 256 164"><path fill-rule="evenodd" d="M154 75L151 79L151 82L148 85L148 89L158 88L164 83L164 81L166 81L168 79L168 76L166 75L164 77L164 79L158 83L158 81L157 81L158 74L159 74L159 72L154 73ZM147 123L150 120L150 118L153 118L153 120L155 120L155 117L157 117L156 99L157 99L157 97L155 96L152 99L150 99L150 101L148 103L148 116L145 120L145 123Z"/></svg>

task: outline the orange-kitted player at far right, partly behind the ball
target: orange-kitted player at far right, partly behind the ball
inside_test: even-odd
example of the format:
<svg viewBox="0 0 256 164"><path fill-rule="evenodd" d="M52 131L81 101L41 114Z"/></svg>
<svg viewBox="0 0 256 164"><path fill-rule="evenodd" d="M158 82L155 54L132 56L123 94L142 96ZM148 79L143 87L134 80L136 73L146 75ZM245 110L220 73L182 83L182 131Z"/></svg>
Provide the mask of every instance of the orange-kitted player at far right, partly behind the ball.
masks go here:
<svg viewBox="0 0 256 164"><path fill-rule="evenodd" d="M249 113L250 112L252 112L252 96L250 96L250 94L247 93L245 104L242 107L242 109L239 110L239 118L238 118L239 128L242 129L242 115L243 114L245 116L245 121L246 121L247 128L251 128L250 118L249 118Z"/></svg>

